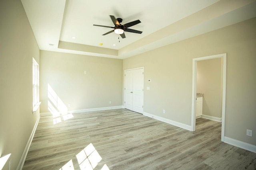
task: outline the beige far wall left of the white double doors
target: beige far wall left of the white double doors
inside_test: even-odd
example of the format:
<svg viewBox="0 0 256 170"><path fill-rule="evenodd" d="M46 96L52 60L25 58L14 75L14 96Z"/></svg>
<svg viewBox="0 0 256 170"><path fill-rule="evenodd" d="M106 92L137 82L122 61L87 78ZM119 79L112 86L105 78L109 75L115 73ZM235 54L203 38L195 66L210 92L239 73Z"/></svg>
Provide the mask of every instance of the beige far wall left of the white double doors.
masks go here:
<svg viewBox="0 0 256 170"><path fill-rule="evenodd" d="M48 85L68 110L122 105L122 60L40 51L40 64L41 113L53 104Z"/></svg>

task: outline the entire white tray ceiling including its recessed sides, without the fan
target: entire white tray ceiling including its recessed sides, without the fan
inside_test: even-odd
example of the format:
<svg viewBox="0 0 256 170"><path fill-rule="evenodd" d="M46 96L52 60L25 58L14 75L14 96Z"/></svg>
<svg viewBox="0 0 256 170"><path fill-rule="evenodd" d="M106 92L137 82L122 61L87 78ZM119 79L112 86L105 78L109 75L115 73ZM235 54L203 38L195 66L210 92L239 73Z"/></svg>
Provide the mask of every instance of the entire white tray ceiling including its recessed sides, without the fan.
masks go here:
<svg viewBox="0 0 256 170"><path fill-rule="evenodd" d="M255 0L21 1L41 50L117 59L256 17ZM140 20L130 28L143 33L125 32L120 42L115 33L102 35L111 28L93 24L114 26L109 15L122 24Z"/></svg>

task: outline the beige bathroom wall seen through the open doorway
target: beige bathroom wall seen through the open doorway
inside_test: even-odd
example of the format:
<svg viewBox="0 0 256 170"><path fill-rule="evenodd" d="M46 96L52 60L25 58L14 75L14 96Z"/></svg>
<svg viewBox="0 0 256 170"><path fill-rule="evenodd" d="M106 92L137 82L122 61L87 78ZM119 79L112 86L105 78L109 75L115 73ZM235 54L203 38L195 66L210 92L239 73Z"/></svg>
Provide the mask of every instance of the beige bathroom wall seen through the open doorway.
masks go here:
<svg viewBox="0 0 256 170"><path fill-rule="evenodd" d="M222 117L221 58L197 61L196 92L203 93L203 115Z"/></svg>

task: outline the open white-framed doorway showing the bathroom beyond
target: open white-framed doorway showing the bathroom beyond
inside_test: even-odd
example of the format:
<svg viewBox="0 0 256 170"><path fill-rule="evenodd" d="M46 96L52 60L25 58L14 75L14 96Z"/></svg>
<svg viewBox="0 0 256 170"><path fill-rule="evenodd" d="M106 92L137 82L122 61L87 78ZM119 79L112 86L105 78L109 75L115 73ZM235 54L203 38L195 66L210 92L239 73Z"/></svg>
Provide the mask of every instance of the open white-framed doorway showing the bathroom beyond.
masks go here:
<svg viewBox="0 0 256 170"><path fill-rule="evenodd" d="M193 59L192 77L192 130L196 130L196 119L200 117L222 122L224 141L226 53Z"/></svg>

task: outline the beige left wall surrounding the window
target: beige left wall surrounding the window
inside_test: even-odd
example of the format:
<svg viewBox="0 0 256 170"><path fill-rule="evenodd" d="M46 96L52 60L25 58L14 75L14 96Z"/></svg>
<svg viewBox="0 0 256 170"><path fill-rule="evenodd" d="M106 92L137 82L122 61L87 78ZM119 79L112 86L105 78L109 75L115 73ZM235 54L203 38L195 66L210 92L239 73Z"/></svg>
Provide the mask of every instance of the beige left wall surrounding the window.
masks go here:
<svg viewBox="0 0 256 170"><path fill-rule="evenodd" d="M39 63L39 49L20 0L0 1L0 25L0 156L11 153L14 170L39 116L32 115L32 57Z"/></svg>

